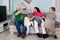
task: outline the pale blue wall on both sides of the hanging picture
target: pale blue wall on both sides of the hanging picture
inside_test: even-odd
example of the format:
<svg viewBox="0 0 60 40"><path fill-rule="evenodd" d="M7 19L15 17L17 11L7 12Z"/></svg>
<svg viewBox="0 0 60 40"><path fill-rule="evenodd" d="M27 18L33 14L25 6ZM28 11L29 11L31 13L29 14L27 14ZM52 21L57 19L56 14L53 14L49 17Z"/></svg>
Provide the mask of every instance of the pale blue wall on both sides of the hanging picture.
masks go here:
<svg viewBox="0 0 60 40"><path fill-rule="evenodd" d="M15 10L16 5L20 5L23 0L12 0L12 8ZM47 12L48 8L52 6L52 0L33 0L32 7L38 6L41 11Z"/></svg>

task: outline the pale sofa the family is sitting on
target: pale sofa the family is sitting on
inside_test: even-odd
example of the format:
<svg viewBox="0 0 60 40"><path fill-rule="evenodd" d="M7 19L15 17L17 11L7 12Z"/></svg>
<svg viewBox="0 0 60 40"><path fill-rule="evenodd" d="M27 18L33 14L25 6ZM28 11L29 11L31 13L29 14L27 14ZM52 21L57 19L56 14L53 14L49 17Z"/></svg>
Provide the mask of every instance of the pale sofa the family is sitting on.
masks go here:
<svg viewBox="0 0 60 40"><path fill-rule="evenodd" d="M46 17L46 15L47 15L47 13L44 13L44 16ZM10 20L10 23L9 23L9 31L10 31L10 33L16 33L17 32L17 30L16 30L16 27L15 27L15 25L14 25L14 18L13 19L11 19ZM58 23L56 22L56 24L55 25L58 25ZM40 30L40 33L41 33L41 25L39 24L39 30ZM30 32L29 32L30 34L35 34L35 30L34 30L34 28L33 27L30 27Z"/></svg>

